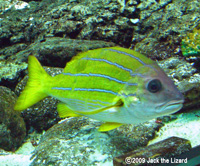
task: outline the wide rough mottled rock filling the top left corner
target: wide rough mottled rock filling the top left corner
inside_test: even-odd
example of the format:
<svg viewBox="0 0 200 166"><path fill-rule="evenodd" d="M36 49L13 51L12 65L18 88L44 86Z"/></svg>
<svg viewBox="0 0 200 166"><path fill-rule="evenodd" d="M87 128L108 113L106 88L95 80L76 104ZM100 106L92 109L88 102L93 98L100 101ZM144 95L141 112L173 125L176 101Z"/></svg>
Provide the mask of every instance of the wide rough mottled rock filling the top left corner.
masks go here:
<svg viewBox="0 0 200 166"><path fill-rule="evenodd" d="M119 6L115 1L110 2L110 0L103 2L99 0L91 2L61 0L57 3L33 1L29 5L30 8L23 10L23 14L11 10L2 15L0 20L0 25L2 25L0 44L2 46L6 47L17 43L30 44L44 37L92 40L91 35L98 33L97 29L94 31L97 25L96 21L101 24L107 20L117 20L114 12L118 10ZM108 8L114 11L110 12ZM100 17L96 18L97 15L100 15ZM13 24L15 25L14 28L12 27ZM121 22L120 25L124 26L124 23ZM107 29L105 30L107 31ZM106 31L102 31L101 34L107 33ZM108 33L113 36L113 32ZM122 34L122 30L120 34ZM122 38L120 35L117 36ZM126 36L128 37L128 34ZM105 39L105 37L99 36L98 38L94 37L94 39L100 40ZM115 40L117 41L116 37ZM129 40L131 40L131 37L129 37ZM124 40L124 42L127 42L127 40Z"/></svg>

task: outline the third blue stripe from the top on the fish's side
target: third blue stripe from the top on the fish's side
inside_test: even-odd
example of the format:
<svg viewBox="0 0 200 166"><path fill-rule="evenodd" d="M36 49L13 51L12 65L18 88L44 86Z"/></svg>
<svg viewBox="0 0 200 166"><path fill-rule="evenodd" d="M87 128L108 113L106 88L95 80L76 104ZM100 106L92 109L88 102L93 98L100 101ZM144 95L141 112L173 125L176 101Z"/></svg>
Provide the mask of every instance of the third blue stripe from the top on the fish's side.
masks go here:
<svg viewBox="0 0 200 166"><path fill-rule="evenodd" d="M86 77L90 77L90 76L94 76L94 77L102 77L102 78L107 78L109 79L110 81L115 81L117 83L120 83L120 84L127 84L127 85L137 85L137 83L128 83L128 82L124 82L124 81L121 81L121 80L118 80L116 78L113 78L113 77L110 77L110 76L107 76L107 75L103 75L103 74L94 74L94 73L77 73L77 74L72 74L72 73L63 73L64 75L69 75L69 76L86 76Z"/></svg>

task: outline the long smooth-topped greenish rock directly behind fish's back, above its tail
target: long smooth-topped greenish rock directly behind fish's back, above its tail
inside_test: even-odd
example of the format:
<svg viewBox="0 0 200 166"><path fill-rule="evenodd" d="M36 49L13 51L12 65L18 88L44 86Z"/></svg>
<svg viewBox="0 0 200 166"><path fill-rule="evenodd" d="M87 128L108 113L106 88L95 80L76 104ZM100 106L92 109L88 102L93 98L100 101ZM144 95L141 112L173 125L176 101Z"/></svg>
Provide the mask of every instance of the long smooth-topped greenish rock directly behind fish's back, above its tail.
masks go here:
<svg viewBox="0 0 200 166"><path fill-rule="evenodd" d="M114 45L112 42L104 41L49 37L31 44L27 49L10 58L15 62L21 62L27 61L28 55L34 55L47 66L64 68L66 63L80 52Z"/></svg>

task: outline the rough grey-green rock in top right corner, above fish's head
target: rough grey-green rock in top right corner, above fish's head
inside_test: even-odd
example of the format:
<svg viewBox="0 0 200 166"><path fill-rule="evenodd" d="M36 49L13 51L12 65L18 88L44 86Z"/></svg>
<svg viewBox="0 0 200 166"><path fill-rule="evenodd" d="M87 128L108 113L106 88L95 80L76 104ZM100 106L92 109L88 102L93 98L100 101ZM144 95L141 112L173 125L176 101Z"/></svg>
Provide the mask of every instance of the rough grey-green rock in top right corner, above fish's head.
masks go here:
<svg viewBox="0 0 200 166"><path fill-rule="evenodd" d="M182 55L182 36L199 24L199 2L143 0L137 7L140 22L135 27L131 47L153 59Z"/></svg>

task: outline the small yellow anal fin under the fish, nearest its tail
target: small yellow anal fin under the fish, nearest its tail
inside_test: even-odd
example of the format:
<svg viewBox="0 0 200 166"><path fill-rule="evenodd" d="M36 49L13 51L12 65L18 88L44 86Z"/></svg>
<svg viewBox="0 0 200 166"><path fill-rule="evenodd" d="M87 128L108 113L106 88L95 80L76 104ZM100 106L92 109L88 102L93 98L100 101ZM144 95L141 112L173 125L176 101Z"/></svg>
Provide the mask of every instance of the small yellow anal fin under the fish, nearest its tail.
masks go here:
<svg viewBox="0 0 200 166"><path fill-rule="evenodd" d="M81 115L76 114L73 110L71 110L66 104L58 103L57 111L61 118L65 117L79 117Z"/></svg>

